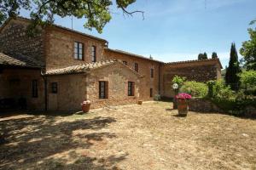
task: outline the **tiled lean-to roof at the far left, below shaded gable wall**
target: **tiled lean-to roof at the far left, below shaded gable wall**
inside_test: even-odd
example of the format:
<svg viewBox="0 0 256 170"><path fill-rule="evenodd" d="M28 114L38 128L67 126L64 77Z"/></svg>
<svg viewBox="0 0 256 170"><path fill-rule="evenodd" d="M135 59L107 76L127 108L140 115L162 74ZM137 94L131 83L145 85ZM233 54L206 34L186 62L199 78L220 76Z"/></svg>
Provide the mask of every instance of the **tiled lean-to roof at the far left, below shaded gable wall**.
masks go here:
<svg viewBox="0 0 256 170"><path fill-rule="evenodd" d="M40 63L38 60L25 56L23 54L15 54L14 57L3 53L0 53L0 65L12 65L33 68L43 67L43 63Z"/></svg>

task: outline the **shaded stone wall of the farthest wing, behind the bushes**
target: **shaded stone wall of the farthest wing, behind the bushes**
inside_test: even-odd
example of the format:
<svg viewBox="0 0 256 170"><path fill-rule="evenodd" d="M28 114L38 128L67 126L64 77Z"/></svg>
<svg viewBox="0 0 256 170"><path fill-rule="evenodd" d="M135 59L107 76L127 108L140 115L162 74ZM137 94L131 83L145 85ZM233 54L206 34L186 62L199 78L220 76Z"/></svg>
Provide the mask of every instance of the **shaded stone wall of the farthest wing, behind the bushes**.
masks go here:
<svg viewBox="0 0 256 170"><path fill-rule="evenodd" d="M174 91L172 89L172 78L174 76L186 77L189 81L207 82L221 78L220 65L218 60L207 60L201 62L166 64L161 67L161 95L166 98L172 98Z"/></svg>

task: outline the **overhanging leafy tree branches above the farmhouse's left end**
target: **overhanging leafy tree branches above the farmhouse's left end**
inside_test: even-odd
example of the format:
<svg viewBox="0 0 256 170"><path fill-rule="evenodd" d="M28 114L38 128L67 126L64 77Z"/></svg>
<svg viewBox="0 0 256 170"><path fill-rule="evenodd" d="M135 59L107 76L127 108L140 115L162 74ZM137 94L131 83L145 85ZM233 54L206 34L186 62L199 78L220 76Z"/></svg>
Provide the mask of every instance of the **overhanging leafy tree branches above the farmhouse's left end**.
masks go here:
<svg viewBox="0 0 256 170"><path fill-rule="evenodd" d="M37 26L45 26L54 23L54 16L62 18L74 16L84 18L84 28L102 33L103 27L111 20L110 7L115 3L123 14L143 14L143 11L127 11L126 8L136 0L0 0L0 25L9 17L20 14L20 9L32 11L30 13L32 25L31 31Z"/></svg>

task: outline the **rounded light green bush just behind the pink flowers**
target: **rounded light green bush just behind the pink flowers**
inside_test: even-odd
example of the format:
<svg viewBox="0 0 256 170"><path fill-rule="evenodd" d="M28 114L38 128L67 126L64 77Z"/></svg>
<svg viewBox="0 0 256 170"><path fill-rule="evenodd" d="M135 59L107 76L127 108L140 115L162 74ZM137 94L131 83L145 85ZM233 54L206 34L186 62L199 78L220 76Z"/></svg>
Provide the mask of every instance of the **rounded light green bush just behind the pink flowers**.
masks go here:
<svg viewBox="0 0 256 170"><path fill-rule="evenodd" d="M208 94L207 84L195 81L184 82L180 91L186 94L190 94L192 97L200 98L204 98Z"/></svg>

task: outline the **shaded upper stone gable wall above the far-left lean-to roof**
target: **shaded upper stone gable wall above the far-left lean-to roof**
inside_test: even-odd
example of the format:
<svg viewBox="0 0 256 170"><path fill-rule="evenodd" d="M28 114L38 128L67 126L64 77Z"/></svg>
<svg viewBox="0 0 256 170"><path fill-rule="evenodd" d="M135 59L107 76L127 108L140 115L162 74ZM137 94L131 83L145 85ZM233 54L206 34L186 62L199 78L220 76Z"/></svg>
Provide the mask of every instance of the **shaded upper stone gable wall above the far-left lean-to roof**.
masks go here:
<svg viewBox="0 0 256 170"><path fill-rule="evenodd" d="M36 37L28 37L24 20L10 20L0 32L0 51L5 54L23 54L37 59L44 65L44 31Z"/></svg>

